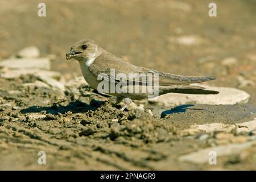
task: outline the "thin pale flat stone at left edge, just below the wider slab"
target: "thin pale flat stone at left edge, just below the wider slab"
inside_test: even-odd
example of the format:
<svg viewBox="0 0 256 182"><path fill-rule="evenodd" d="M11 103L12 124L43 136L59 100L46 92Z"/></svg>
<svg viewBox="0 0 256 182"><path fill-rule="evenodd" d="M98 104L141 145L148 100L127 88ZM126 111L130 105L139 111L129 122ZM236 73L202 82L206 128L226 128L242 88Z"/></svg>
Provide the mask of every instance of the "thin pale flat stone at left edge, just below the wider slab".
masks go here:
<svg viewBox="0 0 256 182"><path fill-rule="evenodd" d="M6 71L3 73L0 73L0 77L2 78L18 78L22 75L43 75L43 76L48 76L51 78L59 78L60 73L59 72L53 72L53 71L46 71L46 70L40 70L40 69L18 69L18 70L11 70L11 71Z"/></svg>

